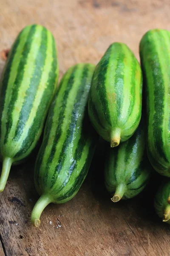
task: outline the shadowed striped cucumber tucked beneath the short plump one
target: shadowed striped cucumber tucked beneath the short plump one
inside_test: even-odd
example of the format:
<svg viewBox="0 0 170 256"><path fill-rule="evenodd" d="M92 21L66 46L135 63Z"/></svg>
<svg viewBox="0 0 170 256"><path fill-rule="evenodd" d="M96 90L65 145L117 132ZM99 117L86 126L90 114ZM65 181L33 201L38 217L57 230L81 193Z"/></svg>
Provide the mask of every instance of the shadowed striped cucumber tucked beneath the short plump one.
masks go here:
<svg viewBox="0 0 170 256"><path fill-rule="evenodd" d="M133 136L119 147L110 148L105 163L105 186L118 202L138 195L146 186L152 166L145 153L143 122Z"/></svg>

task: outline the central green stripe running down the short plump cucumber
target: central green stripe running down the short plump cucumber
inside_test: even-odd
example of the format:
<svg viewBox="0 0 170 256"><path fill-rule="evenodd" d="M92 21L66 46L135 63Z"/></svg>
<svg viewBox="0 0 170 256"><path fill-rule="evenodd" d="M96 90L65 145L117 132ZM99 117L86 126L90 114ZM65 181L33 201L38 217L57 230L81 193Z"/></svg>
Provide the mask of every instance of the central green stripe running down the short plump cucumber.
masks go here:
<svg viewBox="0 0 170 256"><path fill-rule="evenodd" d="M122 116L122 106L123 106L123 101L124 101L124 73L125 73L125 64L124 64L124 59L125 57L125 52L122 49L122 45L118 45L119 48L117 51L119 52L119 57L117 61L117 66L116 66L116 75L114 78L114 90L116 94L116 111L117 111L117 118L119 119Z"/></svg>

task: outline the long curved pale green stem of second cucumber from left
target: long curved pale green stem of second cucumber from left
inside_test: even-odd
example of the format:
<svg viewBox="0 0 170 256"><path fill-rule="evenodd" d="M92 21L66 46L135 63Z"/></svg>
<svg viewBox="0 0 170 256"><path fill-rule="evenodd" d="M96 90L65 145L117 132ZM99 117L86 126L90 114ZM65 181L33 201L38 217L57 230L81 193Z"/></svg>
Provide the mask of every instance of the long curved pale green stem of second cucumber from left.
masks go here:
<svg viewBox="0 0 170 256"><path fill-rule="evenodd" d="M52 202L49 195L41 195L35 204L32 213L31 213L31 223L35 227L40 227L41 221L40 216L45 207Z"/></svg>

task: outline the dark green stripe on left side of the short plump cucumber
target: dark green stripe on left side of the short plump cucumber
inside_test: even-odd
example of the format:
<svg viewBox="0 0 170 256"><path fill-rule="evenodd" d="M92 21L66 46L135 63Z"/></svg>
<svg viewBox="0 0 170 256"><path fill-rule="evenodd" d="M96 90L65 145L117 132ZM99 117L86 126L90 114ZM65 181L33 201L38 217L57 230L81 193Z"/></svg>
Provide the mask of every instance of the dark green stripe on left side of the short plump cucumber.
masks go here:
<svg viewBox="0 0 170 256"><path fill-rule="evenodd" d="M97 93L99 93L99 99L102 104L102 110L103 110L103 113L105 114L105 119L109 125L111 125L111 116L110 116L110 111L108 108L108 99L107 99L107 93L106 93L106 87L105 87L106 86L105 79L107 76L109 61L111 61L110 60L111 49L112 49L112 45L107 49L107 51L105 52L105 55L102 57L101 61L96 66L96 70L97 69L99 70L97 72L96 91L97 91ZM94 77L95 77L95 71L94 71ZM92 86L93 86L93 81L92 81Z"/></svg>

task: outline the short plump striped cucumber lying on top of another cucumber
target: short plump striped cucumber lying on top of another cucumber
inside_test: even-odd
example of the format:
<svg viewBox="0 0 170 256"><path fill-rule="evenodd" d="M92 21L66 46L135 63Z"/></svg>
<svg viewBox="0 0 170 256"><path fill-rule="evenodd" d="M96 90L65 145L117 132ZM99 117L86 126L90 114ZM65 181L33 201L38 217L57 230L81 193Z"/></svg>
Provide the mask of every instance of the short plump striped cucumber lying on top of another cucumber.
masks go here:
<svg viewBox="0 0 170 256"><path fill-rule="evenodd" d="M98 134L115 147L136 131L141 111L139 62L125 44L111 44L94 71L88 102L91 122Z"/></svg>

